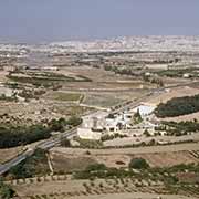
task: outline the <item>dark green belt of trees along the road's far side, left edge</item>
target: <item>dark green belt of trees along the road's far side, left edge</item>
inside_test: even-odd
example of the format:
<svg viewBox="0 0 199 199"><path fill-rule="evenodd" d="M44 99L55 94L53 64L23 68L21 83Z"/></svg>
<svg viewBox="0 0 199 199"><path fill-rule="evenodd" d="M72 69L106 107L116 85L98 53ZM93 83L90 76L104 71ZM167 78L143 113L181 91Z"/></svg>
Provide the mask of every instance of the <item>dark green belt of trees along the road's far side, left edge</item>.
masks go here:
<svg viewBox="0 0 199 199"><path fill-rule="evenodd" d="M64 132L65 126L73 127L82 123L80 117L52 119L49 124L36 124L31 126L13 126L0 124L0 148L27 145L41 139L46 139L52 132Z"/></svg>

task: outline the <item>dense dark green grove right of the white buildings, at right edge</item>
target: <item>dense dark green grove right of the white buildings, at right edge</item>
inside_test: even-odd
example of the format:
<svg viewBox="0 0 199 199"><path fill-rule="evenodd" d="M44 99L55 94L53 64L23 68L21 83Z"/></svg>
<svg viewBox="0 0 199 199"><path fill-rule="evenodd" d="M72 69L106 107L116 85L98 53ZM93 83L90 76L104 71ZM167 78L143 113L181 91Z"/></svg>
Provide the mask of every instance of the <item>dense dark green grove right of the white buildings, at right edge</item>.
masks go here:
<svg viewBox="0 0 199 199"><path fill-rule="evenodd" d="M176 117L199 111L199 95L175 97L167 103L160 103L155 111L158 117Z"/></svg>

